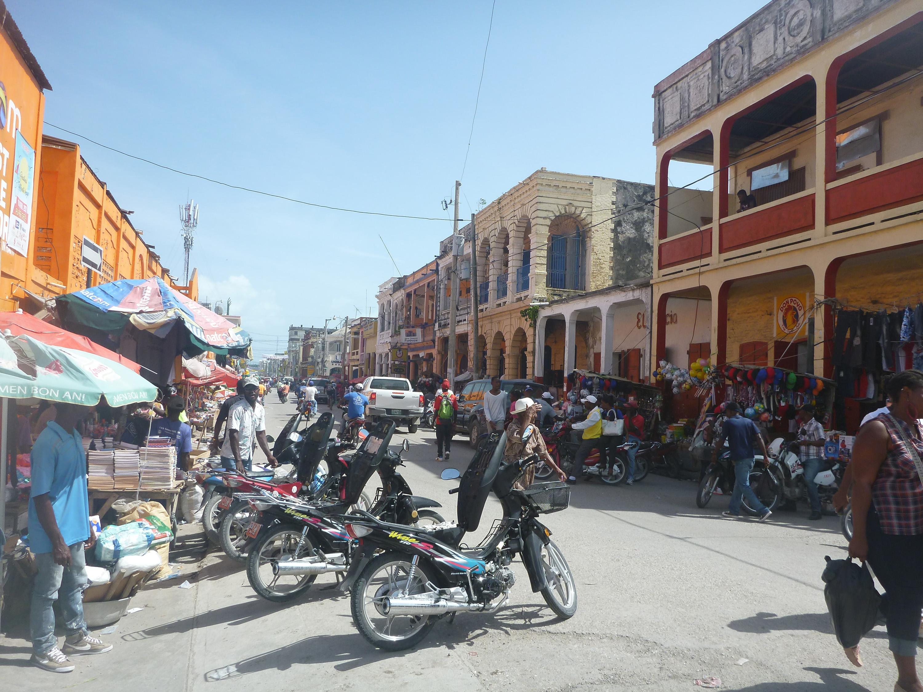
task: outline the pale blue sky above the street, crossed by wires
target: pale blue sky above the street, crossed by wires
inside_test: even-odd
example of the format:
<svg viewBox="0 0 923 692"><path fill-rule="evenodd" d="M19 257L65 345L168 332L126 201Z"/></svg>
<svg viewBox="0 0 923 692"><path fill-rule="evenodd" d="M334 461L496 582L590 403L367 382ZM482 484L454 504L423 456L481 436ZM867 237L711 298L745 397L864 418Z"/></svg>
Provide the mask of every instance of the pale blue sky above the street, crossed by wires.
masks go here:
<svg viewBox="0 0 923 692"><path fill-rule="evenodd" d="M379 234L406 274L451 233L439 202L462 174L490 0L6 4L54 88L47 123L233 185L447 220L254 195L46 125L80 144L174 276L178 205L199 203L201 299L231 298L257 357L290 324L377 312L397 274ZM653 183L653 85L763 4L497 0L460 216L542 166Z"/></svg>

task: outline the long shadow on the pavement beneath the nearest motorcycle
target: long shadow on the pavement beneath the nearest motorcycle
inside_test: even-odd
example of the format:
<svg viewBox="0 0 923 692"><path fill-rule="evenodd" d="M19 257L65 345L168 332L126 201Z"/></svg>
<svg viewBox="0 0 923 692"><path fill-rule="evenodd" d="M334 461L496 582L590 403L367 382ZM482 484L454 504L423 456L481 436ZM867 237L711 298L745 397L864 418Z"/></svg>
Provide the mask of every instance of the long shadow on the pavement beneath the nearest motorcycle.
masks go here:
<svg viewBox="0 0 923 692"><path fill-rule="evenodd" d="M420 649L445 647L454 650L456 646L483 637L491 631L508 633L511 630L554 625L558 622L557 618L542 614L543 611L547 613L544 604L516 606L481 617L462 614L454 623L437 625L419 645L404 651L375 649L358 633L308 637L210 670L205 674L205 680L219 682L270 669L288 670L297 663L333 663L336 670L346 673L369 664L402 658Z"/></svg>

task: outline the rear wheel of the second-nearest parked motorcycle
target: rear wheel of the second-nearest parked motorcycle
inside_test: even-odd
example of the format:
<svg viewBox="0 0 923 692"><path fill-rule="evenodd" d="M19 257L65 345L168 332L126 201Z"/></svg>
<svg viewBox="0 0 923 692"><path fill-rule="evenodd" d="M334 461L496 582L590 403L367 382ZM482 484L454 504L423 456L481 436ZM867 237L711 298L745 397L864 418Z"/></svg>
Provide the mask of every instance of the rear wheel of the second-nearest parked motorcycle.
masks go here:
<svg viewBox="0 0 923 692"><path fill-rule="evenodd" d="M271 529L258 541L246 557L246 579L250 586L267 601L285 603L310 589L315 574L273 574L273 563L298 560L314 555L314 543L309 535L302 540L302 530L282 524Z"/></svg>

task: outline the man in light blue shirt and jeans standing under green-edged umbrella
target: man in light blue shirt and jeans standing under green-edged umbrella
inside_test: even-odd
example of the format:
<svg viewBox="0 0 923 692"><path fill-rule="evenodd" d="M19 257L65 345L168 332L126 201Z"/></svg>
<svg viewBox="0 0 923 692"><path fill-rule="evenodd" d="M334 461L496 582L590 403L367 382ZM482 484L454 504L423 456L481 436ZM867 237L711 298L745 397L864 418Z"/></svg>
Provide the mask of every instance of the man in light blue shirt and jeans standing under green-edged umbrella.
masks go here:
<svg viewBox="0 0 923 692"><path fill-rule="evenodd" d="M84 545L96 537L90 530L87 457L75 424L92 410L55 404L57 415L32 447L32 489L29 500L29 544L38 574L32 587L32 663L54 673L70 673L68 655L105 653L111 644L90 637L83 619L87 585ZM84 543L86 542L86 543ZM54 637L53 604L59 602L67 636L64 650Z"/></svg>

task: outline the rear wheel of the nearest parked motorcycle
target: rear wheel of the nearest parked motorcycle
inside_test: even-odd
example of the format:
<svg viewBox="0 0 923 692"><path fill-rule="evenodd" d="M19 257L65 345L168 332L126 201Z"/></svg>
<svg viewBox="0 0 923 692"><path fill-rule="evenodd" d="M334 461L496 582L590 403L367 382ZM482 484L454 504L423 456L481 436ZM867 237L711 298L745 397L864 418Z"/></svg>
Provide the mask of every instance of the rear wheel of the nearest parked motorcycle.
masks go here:
<svg viewBox="0 0 923 692"><path fill-rule="evenodd" d="M353 621L359 633L378 649L400 651L410 649L429 634L436 624L429 615L385 614L385 601L390 596L424 596L429 592L426 582L437 580L435 570L423 560L417 563L410 579L411 558L402 553L383 553L372 560L350 590Z"/></svg>

